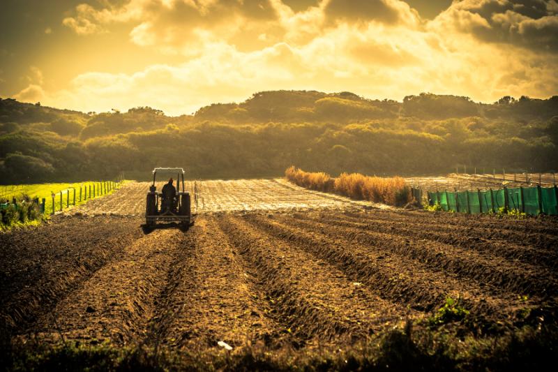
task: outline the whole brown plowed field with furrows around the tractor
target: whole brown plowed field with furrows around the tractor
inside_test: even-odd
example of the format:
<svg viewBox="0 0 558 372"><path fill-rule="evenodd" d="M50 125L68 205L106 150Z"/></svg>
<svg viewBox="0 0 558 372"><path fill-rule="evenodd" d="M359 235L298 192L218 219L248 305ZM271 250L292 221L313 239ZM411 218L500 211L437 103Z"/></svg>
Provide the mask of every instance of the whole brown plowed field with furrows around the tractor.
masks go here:
<svg viewBox="0 0 558 372"><path fill-rule="evenodd" d="M476 336L558 296L556 219L375 209L281 179L204 181L188 231L145 231L148 185L1 236L3 338L350 348L432 318L448 296Z"/></svg>

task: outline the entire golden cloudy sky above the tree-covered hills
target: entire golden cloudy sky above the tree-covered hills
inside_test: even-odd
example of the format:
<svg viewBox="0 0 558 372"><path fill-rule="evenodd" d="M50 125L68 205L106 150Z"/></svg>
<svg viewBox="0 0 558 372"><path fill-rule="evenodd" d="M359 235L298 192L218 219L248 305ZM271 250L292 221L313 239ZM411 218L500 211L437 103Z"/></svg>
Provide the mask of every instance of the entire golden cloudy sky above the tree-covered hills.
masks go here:
<svg viewBox="0 0 558 372"><path fill-rule="evenodd" d="M2 0L0 34L1 97L84 112L558 94L556 0Z"/></svg>

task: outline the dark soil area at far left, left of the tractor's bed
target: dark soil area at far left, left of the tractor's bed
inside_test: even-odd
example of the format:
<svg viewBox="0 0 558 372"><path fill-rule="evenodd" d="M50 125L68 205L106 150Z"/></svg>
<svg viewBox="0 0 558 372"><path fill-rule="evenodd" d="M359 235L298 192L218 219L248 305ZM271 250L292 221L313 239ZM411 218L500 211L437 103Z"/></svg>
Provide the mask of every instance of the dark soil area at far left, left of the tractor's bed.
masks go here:
<svg viewBox="0 0 558 372"><path fill-rule="evenodd" d="M0 333L24 332L142 235L133 218L62 218L2 236Z"/></svg>

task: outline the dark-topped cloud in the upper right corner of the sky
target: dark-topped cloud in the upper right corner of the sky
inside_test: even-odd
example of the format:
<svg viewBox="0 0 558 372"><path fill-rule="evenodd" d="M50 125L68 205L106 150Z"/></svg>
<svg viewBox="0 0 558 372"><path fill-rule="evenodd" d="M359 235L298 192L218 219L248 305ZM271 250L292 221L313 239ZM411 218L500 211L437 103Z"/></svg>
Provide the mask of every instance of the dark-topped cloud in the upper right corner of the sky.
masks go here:
<svg viewBox="0 0 558 372"><path fill-rule="evenodd" d="M543 0L455 1L432 25L491 43L558 52L558 4Z"/></svg>

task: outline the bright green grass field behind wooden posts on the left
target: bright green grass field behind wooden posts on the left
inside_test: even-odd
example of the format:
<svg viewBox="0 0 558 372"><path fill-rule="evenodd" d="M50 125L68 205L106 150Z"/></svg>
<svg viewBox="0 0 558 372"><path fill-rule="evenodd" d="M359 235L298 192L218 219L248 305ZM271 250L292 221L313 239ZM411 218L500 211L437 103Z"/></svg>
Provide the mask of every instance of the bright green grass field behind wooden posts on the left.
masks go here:
<svg viewBox="0 0 558 372"><path fill-rule="evenodd" d="M91 186L91 190L93 190L93 185L96 185L96 188L100 182L94 181L86 181L86 182L76 182L73 184L68 183L60 183L60 184L29 184L29 185L3 185L0 186L0 200L12 200L12 198L16 198L19 200L22 195L28 195L31 198L39 198L39 201L45 198L45 214L49 216L52 214L52 193L59 193L59 191L65 191L70 189L70 205L73 205L73 196L74 191L71 188L75 188L75 205L83 204L87 200L89 200L89 186ZM80 200L80 187L82 188L82 200ZM85 200L85 191L84 189L87 188L87 199ZM114 190L113 190L114 191ZM106 194L108 195L113 191L109 191ZM91 194L93 192L91 191ZM102 196L96 194L96 197ZM63 193L62 195L62 204L63 208L66 208L66 204L68 202L68 195ZM60 195L56 195L54 198L54 208L56 211L60 210Z"/></svg>

